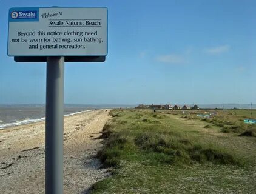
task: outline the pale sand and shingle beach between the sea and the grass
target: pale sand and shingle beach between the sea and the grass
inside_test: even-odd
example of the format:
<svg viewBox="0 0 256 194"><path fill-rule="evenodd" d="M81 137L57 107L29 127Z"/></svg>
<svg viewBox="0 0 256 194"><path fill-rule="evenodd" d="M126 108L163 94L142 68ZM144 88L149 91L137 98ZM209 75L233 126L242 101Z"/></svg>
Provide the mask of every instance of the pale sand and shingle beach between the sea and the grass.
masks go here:
<svg viewBox="0 0 256 194"><path fill-rule="evenodd" d="M86 193L109 176L94 156L109 110L64 118L64 193ZM45 122L0 130L1 193L44 193Z"/></svg>

